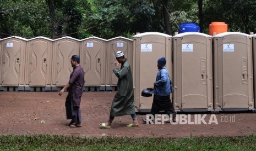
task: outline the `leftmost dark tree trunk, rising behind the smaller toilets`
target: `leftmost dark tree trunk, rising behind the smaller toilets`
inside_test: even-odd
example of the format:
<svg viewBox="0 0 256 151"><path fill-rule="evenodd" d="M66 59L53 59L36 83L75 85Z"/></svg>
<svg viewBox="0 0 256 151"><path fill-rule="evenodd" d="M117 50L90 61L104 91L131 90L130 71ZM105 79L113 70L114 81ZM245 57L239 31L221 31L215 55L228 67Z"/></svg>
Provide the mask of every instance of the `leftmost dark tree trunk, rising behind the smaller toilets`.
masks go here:
<svg viewBox="0 0 256 151"><path fill-rule="evenodd" d="M46 0L46 3L48 3L49 11L50 11L50 17L52 21L52 39L57 38L57 22L55 17L55 5L53 3L53 0Z"/></svg>

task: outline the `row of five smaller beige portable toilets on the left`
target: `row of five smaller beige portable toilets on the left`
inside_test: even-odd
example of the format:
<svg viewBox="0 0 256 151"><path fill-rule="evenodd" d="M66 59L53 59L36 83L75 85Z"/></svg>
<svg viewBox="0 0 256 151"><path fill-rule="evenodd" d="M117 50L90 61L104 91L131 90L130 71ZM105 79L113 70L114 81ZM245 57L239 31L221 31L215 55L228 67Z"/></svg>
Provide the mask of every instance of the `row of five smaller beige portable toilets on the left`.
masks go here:
<svg viewBox="0 0 256 151"><path fill-rule="evenodd" d="M118 79L112 68L118 50L133 63L132 39L124 37L0 39L0 90L57 91L67 84L73 71L72 55L80 55L85 91L115 90Z"/></svg>

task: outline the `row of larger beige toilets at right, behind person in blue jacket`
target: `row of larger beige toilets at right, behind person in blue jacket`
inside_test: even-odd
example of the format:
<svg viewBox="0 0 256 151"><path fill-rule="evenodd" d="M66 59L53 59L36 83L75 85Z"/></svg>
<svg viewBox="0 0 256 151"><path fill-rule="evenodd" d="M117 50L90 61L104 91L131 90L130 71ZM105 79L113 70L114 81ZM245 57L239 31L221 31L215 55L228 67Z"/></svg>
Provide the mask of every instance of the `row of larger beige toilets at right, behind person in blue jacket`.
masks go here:
<svg viewBox="0 0 256 151"><path fill-rule="evenodd" d="M133 49L138 112L151 109L153 98L142 97L141 91L152 88L162 56L173 80L176 111L255 112L256 34L141 33L133 36Z"/></svg>

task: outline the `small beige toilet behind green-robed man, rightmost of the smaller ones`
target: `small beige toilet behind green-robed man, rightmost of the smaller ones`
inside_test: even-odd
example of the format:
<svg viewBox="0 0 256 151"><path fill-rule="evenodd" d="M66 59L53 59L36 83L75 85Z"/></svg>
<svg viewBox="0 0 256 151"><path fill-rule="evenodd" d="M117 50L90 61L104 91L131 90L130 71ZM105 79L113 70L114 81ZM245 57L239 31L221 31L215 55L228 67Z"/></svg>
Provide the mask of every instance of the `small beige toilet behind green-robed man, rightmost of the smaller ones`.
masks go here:
<svg viewBox="0 0 256 151"><path fill-rule="evenodd" d="M122 51L124 57L127 58L130 66L133 67L133 40L124 37L116 37L107 40L107 79L106 79L106 90L115 91L117 86L118 78L115 73L113 73L113 68L115 68L117 51ZM119 68L121 64L119 65Z"/></svg>

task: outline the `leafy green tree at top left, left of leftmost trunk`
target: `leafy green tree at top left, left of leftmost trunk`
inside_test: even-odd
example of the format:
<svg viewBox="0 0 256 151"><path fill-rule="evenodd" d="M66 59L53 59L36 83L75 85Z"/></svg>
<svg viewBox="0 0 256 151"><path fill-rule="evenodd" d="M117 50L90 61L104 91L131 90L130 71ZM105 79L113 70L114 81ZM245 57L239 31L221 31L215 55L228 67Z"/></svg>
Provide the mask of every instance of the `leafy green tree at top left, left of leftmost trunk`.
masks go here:
<svg viewBox="0 0 256 151"><path fill-rule="evenodd" d="M6 0L0 4L0 8L2 10L0 13L1 38L48 36L48 18L45 16L46 5L43 0Z"/></svg>

